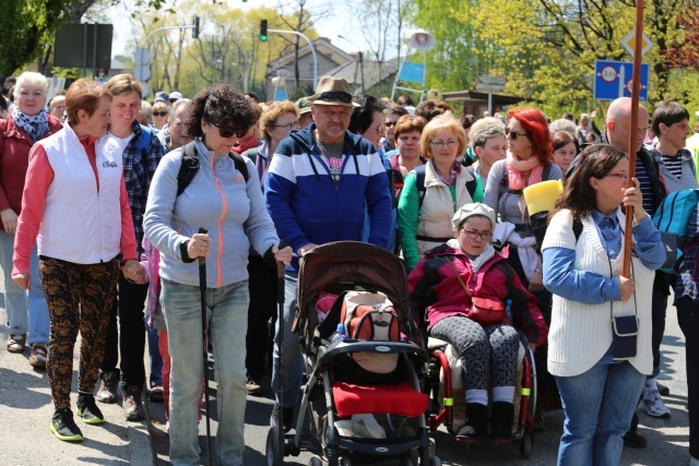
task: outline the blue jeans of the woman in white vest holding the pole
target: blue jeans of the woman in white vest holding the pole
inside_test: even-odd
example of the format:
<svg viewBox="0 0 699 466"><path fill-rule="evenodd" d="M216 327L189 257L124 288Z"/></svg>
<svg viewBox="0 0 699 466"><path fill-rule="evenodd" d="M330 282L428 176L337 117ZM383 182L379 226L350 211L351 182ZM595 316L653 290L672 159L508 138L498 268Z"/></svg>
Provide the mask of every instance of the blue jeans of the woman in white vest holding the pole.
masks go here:
<svg viewBox="0 0 699 466"><path fill-rule="evenodd" d="M645 375L628 361L595 365L574 377L556 377L566 421L559 466L616 466Z"/></svg>

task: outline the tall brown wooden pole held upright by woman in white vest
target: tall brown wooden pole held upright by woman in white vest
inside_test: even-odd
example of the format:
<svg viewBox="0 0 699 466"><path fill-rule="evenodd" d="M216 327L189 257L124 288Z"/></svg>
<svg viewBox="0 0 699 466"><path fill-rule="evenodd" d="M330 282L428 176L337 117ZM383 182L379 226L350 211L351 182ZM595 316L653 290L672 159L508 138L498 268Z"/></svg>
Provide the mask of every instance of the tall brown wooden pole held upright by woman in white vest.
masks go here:
<svg viewBox="0 0 699 466"><path fill-rule="evenodd" d="M636 0L636 35L633 38L633 77L631 82L631 124L629 126L629 171L627 188L633 187L636 177L636 152L638 138L638 106L641 94L641 49L643 48L643 0ZM645 124L643 124L645 128ZM624 268L621 275L631 276L631 240L633 231L633 207L626 207L626 225L624 228Z"/></svg>

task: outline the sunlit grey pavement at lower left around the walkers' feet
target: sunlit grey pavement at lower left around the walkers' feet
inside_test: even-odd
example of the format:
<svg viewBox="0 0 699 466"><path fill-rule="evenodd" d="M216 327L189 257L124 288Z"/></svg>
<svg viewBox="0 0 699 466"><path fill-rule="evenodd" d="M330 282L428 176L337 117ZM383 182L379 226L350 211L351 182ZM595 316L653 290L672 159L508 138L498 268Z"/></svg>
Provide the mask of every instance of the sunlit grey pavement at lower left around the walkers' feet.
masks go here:
<svg viewBox="0 0 699 466"><path fill-rule="evenodd" d="M119 404L99 404L106 422L88 426L75 417L85 440L61 442L49 431L54 404L46 371L29 366L24 355L5 350L8 328L4 297L0 296L0 464L43 465L153 465L147 422L127 422ZM80 342L80 339L79 339ZM76 344L76 348L79 343ZM78 350L73 358L72 410L78 398Z"/></svg>

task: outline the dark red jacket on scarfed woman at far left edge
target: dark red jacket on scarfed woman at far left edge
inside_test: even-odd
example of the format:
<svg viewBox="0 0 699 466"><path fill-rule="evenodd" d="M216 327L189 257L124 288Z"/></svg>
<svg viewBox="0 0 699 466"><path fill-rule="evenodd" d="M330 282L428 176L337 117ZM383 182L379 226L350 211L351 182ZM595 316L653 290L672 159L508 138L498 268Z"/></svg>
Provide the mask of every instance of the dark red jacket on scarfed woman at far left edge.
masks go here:
<svg viewBox="0 0 699 466"><path fill-rule="evenodd" d="M49 113L48 133L44 138L62 129L63 126L58 118ZM0 120L0 211L12 208L17 216L20 215L24 178L33 145L32 138L16 126L11 116L8 116L7 120Z"/></svg>

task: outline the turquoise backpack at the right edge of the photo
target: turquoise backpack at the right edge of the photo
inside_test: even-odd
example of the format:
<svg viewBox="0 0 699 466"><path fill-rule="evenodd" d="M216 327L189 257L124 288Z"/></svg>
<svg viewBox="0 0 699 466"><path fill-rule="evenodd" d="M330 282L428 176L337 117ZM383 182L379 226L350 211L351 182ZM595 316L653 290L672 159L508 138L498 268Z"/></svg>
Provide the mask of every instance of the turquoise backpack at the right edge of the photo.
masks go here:
<svg viewBox="0 0 699 466"><path fill-rule="evenodd" d="M691 214L699 204L699 189L686 189L667 194L653 215L653 223L663 237L667 259L660 268L662 272L675 274L675 265L679 263L683 249L687 244L687 227Z"/></svg>

